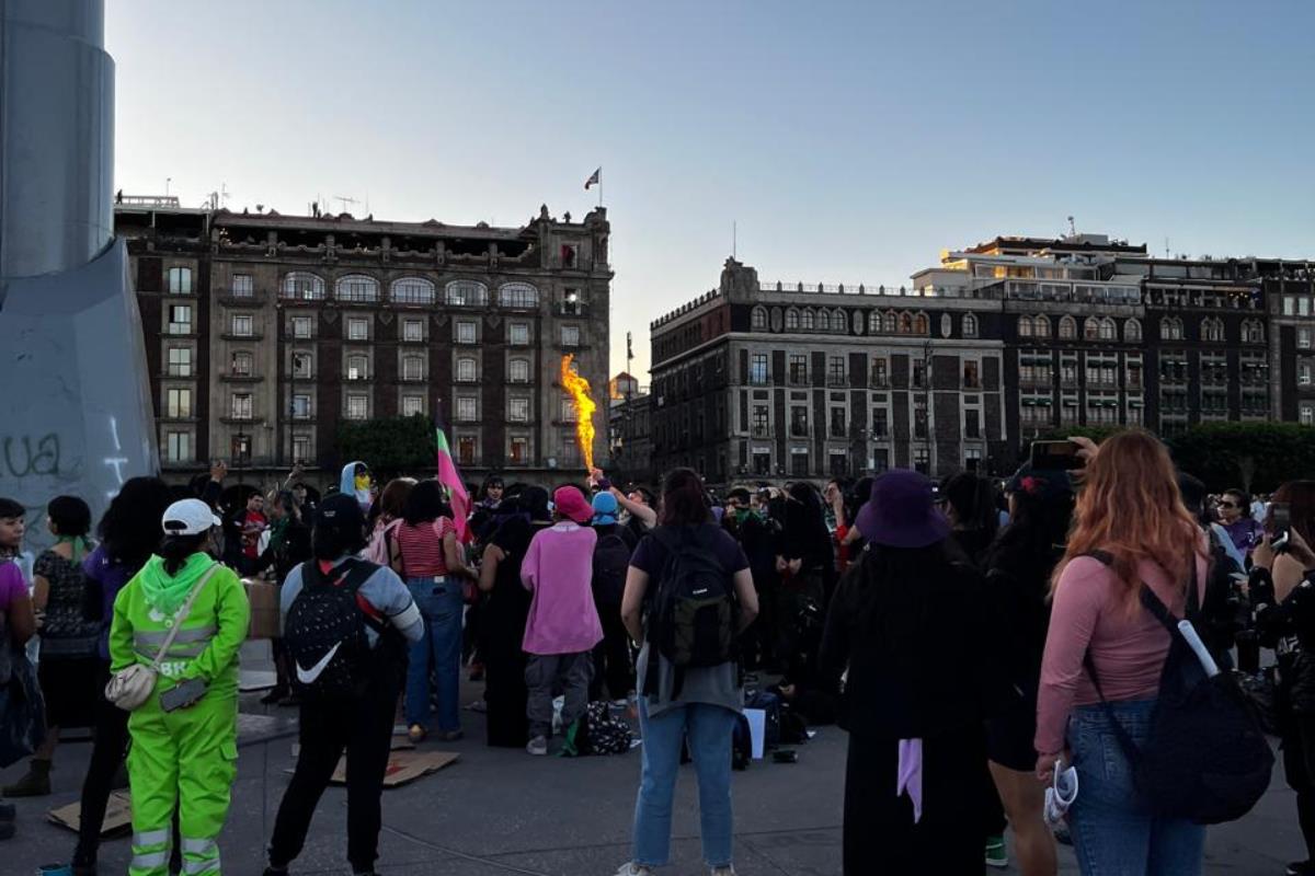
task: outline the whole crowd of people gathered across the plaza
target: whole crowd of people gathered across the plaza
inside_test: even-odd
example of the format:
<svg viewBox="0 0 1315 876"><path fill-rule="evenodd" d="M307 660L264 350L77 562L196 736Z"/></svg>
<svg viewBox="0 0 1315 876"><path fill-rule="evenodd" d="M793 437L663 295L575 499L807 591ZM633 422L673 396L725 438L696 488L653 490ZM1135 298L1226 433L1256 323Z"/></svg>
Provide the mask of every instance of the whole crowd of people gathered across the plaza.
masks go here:
<svg viewBox="0 0 1315 876"><path fill-rule="evenodd" d="M1005 482L892 470L714 495L689 469L658 493L600 470L551 493L490 477L462 515L450 485L376 485L362 462L322 500L300 471L226 493L216 465L184 489L129 481L95 529L83 500L51 499L54 544L34 559L25 510L0 499L0 687L43 693L43 733L4 796L49 795L60 729L91 726L74 872L96 872L125 756L129 872L218 872L239 578L264 577L283 617L264 703L300 709L267 876L301 852L343 753L348 863L373 872L393 726L460 738L463 665L484 682L468 708L489 746L571 756L590 716L638 721L621 876L668 863L685 755L704 860L734 873L746 691L848 732L846 873L982 872L1007 865L1011 833L1020 872L1049 876L1056 831L1084 873L1197 873L1205 827L1149 805L1137 780L1173 641L1149 599L1277 688L1310 850L1287 872L1315 873L1315 482L1214 496L1149 433L1078 441L1080 469L1024 465Z"/></svg>

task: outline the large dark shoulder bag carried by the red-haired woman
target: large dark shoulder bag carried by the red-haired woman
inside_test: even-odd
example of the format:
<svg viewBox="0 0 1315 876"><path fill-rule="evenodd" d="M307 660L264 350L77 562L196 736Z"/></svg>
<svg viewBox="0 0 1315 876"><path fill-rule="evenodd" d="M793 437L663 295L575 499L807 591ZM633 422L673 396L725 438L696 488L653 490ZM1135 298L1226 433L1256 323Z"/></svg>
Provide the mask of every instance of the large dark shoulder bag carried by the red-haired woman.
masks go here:
<svg viewBox="0 0 1315 876"><path fill-rule="evenodd" d="M1109 554L1090 554L1109 565ZM1201 628L1197 562L1191 557L1186 620ZM1132 766L1132 777L1151 814L1218 825L1241 818L1269 789L1274 754L1233 672L1207 676L1178 619L1141 584L1141 604L1169 630L1169 654L1160 675L1160 693L1151 730L1139 749L1105 700L1090 653L1084 658L1114 735ZM1226 667L1222 655L1212 655Z"/></svg>

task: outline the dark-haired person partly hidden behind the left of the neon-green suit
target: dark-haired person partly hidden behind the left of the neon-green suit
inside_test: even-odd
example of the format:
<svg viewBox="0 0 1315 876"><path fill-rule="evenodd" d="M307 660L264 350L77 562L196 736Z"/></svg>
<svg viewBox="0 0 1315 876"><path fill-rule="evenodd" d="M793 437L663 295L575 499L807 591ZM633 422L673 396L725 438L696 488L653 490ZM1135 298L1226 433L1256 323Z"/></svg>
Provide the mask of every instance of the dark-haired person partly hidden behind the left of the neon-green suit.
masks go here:
<svg viewBox="0 0 1315 876"><path fill-rule="evenodd" d="M132 478L110 500L96 535L100 544L82 565L87 577L88 604L99 619L96 726L91 763L83 779L78 816L78 847L74 876L95 876L100 831L114 776L128 753L129 713L105 699L109 682L109 629L114 600L159 546L164 531L160 519L171 504L168 486L159 478ZM176 854L180 854L178 850Z"/></svg>

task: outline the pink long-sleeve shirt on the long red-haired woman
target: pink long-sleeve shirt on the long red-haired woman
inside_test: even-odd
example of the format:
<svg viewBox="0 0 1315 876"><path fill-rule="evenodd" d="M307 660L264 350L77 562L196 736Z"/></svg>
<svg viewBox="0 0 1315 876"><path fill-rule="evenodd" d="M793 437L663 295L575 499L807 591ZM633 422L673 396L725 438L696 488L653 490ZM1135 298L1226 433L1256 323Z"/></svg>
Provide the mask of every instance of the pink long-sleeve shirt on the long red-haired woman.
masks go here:
<svg viewBox="0 0 1315 876"><path fill-rule="evenodd" d="M1205 536L1198 545L1205 549ZM1197 554L1197 595L1205 596L1207 562ZM1143 561L1141 580L1178 617L1186 598L1185 582L1170 580L1159 565ZM1160 690L1160 672L1169 653L1169 632L1151 612L1137 605L1128 615L1123 587L1114 571L1091 557L1078 557L1064 567L1041 658L1041 687L1036 700L1036 738L1041 754L1064 750L1064 734L1074 705L1101 701L1082 667L1090 649L1105 699L1143 700Z"/></svg>

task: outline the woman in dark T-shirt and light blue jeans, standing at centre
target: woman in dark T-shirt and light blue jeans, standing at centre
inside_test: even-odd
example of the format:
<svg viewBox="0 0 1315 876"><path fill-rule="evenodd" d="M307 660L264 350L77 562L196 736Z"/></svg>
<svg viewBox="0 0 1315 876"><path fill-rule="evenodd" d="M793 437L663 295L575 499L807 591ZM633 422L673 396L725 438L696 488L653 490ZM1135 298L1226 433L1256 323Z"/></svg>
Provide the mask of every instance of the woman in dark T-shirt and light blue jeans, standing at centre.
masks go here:
<svg viewBox="0 0 1315 876"><path fill-rule="evenodd" d="M671 858L672 800L681 746L688 745L698 775L700 835L704 862L714 876L732 876L734 820L731 814L731 733L743 708L744 692L734 661L713 666L677 667L655 645L665 637L661 603L682 582L673 580L677 557L698 550L714 566L718 588L738 604L730 633L743 632L757 615L757 595L748 558L729 533L713 523L704 485L692 469L675 469L663 483L660 525L639 544L630 561L622 620L643 645L636 662L640 679L639 729L643 764L635 801L631 859L618 876L644 876ZM709 587L711 579L705 580ZM663 619L661 621L659 619ZM669 632L669 630L668 630Z"/></svg>

